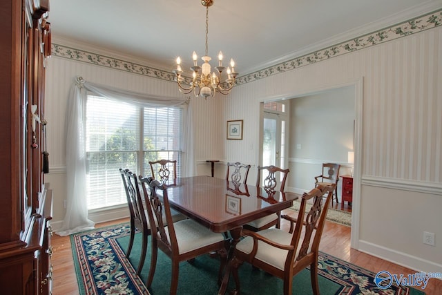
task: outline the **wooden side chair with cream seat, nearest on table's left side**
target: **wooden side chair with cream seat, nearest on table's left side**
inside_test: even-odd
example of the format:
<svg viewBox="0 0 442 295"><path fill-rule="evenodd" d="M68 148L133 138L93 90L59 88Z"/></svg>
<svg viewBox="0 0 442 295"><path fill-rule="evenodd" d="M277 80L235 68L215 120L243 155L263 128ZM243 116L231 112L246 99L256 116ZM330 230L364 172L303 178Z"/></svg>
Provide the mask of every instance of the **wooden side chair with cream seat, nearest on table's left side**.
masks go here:
<svg viewBox="0 0 442 295"><path fill-rule="evenodd" d="M151 269L149 269L146 286L150 287L153 281L158 249L172 260L170 294L177 293L180 262L192 260L203 254L218 253L220 255L218 283L221 283L222 269L227 263L229 240L225 239L222 234L214 233L209 228L200 225L195 220L186 219L175 223L171 222L171 207L166 185L151 177L140 178L140 182L144 189L147 185L151 191L151 197L147 202L148 218L151 222L157 220L157 228L153 228L152 232ZM160 218L163 212L166 215L167 227Z"/></svg>

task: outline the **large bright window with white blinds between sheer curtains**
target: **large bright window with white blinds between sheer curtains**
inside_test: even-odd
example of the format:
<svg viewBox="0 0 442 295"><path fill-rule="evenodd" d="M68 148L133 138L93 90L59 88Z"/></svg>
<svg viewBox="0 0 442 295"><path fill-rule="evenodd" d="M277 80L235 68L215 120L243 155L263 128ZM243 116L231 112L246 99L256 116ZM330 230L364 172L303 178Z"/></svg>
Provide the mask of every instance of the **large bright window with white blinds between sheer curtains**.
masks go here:
<svg viewBox="0 0 442 295"><path fill-rule="evenodd" d="M126 204L119 168L151 175L148 161L177 160L181 167L181 108L142 108L88 95L86 184L88 209Z"/></svg>

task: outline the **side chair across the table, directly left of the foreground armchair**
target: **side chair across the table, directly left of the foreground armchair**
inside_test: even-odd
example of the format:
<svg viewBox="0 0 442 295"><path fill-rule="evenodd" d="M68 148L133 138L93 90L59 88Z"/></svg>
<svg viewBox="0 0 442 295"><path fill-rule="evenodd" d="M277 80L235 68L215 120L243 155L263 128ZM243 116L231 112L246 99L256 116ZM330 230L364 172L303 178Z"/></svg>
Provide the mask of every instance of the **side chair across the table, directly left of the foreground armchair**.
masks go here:
<svg viewBox="0 0 442 295"><path fill-rule="evenodd" d="M256 178L256 187L261 187L269 194L276 189L278 191L284 191L285 182L287 180L287 175L289 174L289 169L281 169L276 166L258 166L258 176ZM261 175L267 173L263 181L261 182ZM257 220L244 225L244 229L249 229L251 231L261 231L262 229L268 229L269 227L275 226L280 227L280 212L270 214Z"/></svg>

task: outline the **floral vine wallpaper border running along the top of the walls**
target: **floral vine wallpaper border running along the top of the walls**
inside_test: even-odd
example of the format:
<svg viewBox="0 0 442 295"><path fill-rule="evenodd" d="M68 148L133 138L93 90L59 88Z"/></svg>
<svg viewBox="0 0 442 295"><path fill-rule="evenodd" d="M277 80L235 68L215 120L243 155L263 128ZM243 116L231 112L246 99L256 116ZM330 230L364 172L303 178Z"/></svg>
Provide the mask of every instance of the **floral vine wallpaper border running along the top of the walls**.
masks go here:
<svg viewBox="0 0 442 295"><path fill-rule="evenodd" d="M254 73L238 77L238 79L236 80L236 84L246 84L248 82L269 77L271 75L284 73L288 70L300 68L301 66L307 66L318 61L323 61L332 57L344 55L346 53L352 53L356 50L361 50L363 48L368 48L370 46L381 44L386 41L392 41L394 39L405 37L416 32L435 28L437 26L441 26L441 24L442 8L434 12L430 12L427 15L416 17L409 21L399 23L398 25L391 26L390 28L384 28L382 30L372 32L371 34L364 35L362 37L356 37L355 39L315 51L314 53L309 53L301 57L296 57L294 59L290 59L289 61L284 61L280 64L270 66L269 68L258 70ZM135 64L130 61L124 61L122 59L115 59L113 57L106 57L104 55L99 55L96 53L89 53L88 51L70 48L59 44L52 44L52 55L55 55L57 57L64 57L66 59L83 61L89 64L95 64L97 66L106 66L108 68L124 70L129 73L136 73L171 82L175 81L175 75L166 70L159 70L157 68ZM191 78L186 77L185 83L190 84Z"/></svg>

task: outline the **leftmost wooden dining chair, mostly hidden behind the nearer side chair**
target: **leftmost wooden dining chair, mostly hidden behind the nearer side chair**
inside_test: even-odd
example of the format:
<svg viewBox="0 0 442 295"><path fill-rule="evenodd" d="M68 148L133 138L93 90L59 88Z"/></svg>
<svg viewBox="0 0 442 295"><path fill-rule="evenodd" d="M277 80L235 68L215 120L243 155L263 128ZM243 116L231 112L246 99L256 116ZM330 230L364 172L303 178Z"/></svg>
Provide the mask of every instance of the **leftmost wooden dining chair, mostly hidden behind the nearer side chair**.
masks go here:
<svg viewBox="0 0 442 295"><path fill-rule="evenodd" d="M132 173L129 169L119 169L122 175L122 180L124 184L124 190L126 191L127 204L129 207L129 212L131 214L130 225L131 225L131 236L129 238L129 245L126 251L126 257L131 256L131 251L133 247L133 240L135 238L135 228L142 233L142 251L140 255L140 263L137 267L137 274L141 274L144 258L146 258L147 242L148 236L151 234L151 223L148 220L145 201L143 202L142 194L140 193L140 185L137 182L137 175ZM144 196L147 196L144 193ZM173 211L173 222L177 220L185 219L186 216ZM165 219L165 216L163 216ZM164 220L165 221L165 220Z"/></svg>

